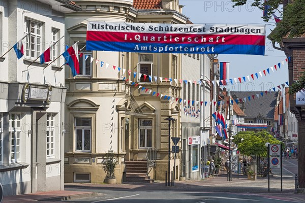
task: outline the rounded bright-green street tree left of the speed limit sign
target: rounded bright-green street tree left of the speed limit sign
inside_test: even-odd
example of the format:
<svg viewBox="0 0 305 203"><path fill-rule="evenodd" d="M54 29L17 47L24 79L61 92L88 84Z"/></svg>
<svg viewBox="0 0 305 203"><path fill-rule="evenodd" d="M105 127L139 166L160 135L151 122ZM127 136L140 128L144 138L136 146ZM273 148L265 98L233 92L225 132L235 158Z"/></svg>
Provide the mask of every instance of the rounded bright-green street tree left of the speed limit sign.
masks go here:
<svg viewBox="0 0 305 203"><path fill-rule="evenodd" d="M241 140L243 139L243 140ZM241 131L234 136L234 143L238 145L238 151L245 155L267 156L266 143L281 144L281 142L271 136L267 131Z"/></svg>

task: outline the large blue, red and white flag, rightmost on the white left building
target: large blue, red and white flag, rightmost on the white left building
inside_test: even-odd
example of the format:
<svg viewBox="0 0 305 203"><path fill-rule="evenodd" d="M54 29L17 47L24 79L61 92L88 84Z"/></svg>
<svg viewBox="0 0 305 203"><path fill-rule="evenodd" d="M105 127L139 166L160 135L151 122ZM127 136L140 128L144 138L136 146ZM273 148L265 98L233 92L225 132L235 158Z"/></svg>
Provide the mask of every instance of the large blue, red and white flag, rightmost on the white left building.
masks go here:
<svg viewBox="0 0 305 203"><path fill-rule="evenodd" d="M77 43L69 47L64 53L66 61L71 67L73 77L79 74L78 46Z"/></svg>

